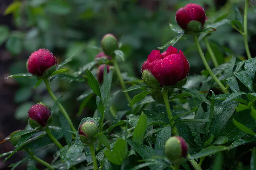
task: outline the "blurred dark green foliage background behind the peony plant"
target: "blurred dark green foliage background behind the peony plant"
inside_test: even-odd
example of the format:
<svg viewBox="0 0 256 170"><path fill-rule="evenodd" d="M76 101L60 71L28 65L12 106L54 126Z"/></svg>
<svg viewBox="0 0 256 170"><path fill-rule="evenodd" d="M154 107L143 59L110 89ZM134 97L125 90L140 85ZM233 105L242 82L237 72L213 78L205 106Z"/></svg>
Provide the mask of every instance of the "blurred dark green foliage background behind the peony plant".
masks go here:
<svg viewBox="0 0 256 170"><path fill-rule="evenodd" d="M251 1L253 4L255 1ZM74 55L67 67L72 74L92 61L100 51L104 34L116 35L122 43L125 62L118 61L122 72L130 77L141 77L140 69L148 54L175 36L168 23L175 23L175 13L188 3L200 4L206 10L208 22L234 18L233 5L243 13L244 0L1 0L0 2L0 140L27 124L27 111L35 103L51 107L53 100L44 84L34 89L36 78L4 79L25 73L26 59L31 52L47 48L56 55L58 63ZM255 3L254 3L255 5ZM256 54L256 14L250 7L248 14L249 45L252 56ZM218 27L209 36L218 62L224 63L235 54L245 55L243 37L230 25ZM190 63L190 75L200 74L204 65L195 48L192 36L186 36L175 45L184 51ZM202 42L209 63L210 57ZM93 70L96 73L96 69ZM81 101L76 98L86 89L85 82L52 81L57 97L64 93L62 103L76 126L82 117L92 116L96 109L95 98L76 116ZM119 88L116 85L114 88ZM115 109L126 107L119 95ZM58 124L58 122L57 122ZM8 144L0 145L0 152L12 150ZM46 156L47 152L41 156ZM13 159L19 160L22 155ZM12 160L15 161L15 160ZM10 162L3 163L0 169Z"/></svg>

